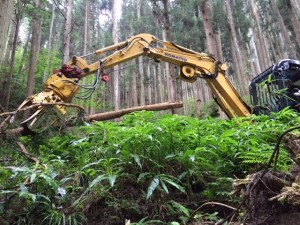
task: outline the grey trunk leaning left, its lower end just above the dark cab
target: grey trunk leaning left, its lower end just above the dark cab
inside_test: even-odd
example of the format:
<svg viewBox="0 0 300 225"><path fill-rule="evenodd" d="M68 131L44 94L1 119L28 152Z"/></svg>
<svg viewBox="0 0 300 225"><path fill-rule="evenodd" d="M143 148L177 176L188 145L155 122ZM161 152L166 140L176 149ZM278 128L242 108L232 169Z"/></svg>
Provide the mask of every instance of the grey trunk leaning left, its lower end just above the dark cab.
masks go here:
<svg viewBox="0 0 300 225"><path fill-rule="evenodd" d="M281 34L284 38L284 46L285 46L284 49L287 50L287 54L288 54L289 58L296 58L296 53L295 53L293 44L292 44L290 36L289 36L289 32L288 32L288 30L287 30L287 28L286 28L286 26L283 22L282 16L281 16L281 14L278 10L276 2L275 2L275 0L270 0L270 3L271 3L271 6L272 6L272 9L274 11L275 17L278 20L278 23L279 23L279 26L280 26L280 29L281 29Z"/></svg>

